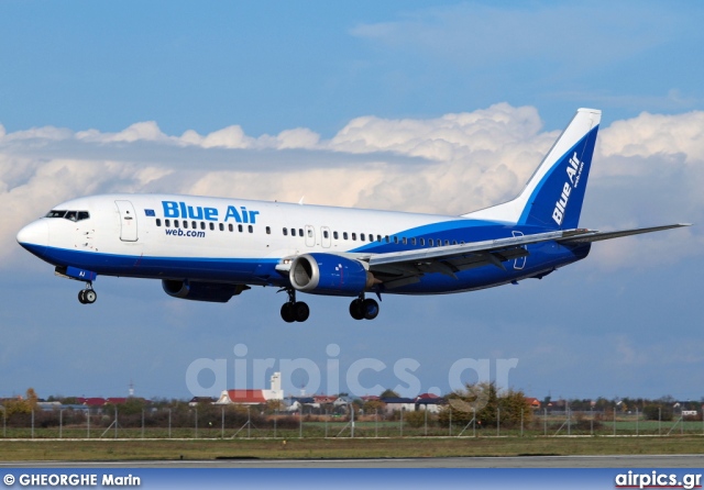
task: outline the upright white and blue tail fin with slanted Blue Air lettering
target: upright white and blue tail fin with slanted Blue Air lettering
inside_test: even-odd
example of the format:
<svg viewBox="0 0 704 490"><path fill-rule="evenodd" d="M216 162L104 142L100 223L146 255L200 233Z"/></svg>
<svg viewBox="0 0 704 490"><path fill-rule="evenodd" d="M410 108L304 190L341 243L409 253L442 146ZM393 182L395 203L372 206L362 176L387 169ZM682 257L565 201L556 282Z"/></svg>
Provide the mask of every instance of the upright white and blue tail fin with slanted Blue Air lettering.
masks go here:
<svg viewBox="0 0 704 490"><path fill-rule="evenodd" d="M602 112L579 109L516 199L464 218L553 230L578 227Z"/></svg>

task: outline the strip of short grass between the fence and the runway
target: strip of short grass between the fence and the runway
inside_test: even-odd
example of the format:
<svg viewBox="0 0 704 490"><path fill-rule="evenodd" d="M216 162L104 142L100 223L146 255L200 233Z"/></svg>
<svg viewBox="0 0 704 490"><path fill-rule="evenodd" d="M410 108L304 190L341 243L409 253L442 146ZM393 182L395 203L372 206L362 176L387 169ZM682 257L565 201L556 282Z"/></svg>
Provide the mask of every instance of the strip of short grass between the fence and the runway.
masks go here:
<svg viewBox="0 0 704 490"><path fill-rule="evenodd" d="M409 458L704 454L702 436L3 441L0 460Z"/></svg>

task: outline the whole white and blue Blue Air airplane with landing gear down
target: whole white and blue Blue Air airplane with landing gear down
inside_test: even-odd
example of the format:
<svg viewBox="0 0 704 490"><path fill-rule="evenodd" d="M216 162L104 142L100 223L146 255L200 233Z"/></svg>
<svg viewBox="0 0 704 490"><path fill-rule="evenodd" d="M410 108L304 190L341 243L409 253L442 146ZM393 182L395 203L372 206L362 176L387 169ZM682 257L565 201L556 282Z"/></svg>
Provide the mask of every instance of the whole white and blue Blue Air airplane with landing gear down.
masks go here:
<svg viewBox="0 0 704 490"><path fill-rule="evenodd" d="M514 200L461 216L172 194L107 194L64 202L18 242L86 283L97 276L161 279L175 298L227 302L253 286L288 293L286 322L308 319L297 292L354 298L373 320L382 294L473 291L585 258L592 242L686 226L598 232L578 227L601 111L580 109Z"/></svg>

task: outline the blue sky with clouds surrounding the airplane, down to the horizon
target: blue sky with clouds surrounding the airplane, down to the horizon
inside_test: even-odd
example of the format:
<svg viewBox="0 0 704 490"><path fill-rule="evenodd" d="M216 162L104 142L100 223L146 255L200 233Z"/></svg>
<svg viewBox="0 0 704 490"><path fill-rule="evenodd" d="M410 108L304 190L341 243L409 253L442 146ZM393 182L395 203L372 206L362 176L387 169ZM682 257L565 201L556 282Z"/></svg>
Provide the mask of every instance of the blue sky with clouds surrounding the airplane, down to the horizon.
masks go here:
<svg viewBox="0 0 704 490"><path fill-rule="evenodd" d="M0 397L189 399L284 368L294 394L704 398L704 4L495 3L0 2ZM516 196L580 107L603 111L580 225L694 226L384 296L373 322L307 296L295 324L272 288L209 304L100 277L81 305L15 241L114 191L461 214Z"/></svg>

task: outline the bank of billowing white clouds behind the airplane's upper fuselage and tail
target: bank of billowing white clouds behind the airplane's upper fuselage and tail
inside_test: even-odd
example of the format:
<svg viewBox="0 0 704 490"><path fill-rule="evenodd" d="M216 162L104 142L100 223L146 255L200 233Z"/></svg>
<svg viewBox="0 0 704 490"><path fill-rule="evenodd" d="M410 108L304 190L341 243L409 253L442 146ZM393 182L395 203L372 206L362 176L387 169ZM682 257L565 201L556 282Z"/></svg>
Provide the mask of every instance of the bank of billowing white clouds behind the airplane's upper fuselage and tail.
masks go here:
<svg viewBox="0 0 704 490"><path fill-rule="evenodd" d="M583 224L703 222L703 122L702 112L644 113L603 129ZM252 137L239 125L168 136L154 122L119 133L0 133L0 204L16 210L0 222L0 258L19 253L18 230L52 205L108 191L305 196L307 203L460 214L519 192L557 136L541 126L535 108L501 103L426 120L356 118L331 140L305 127ZM593 255L604 267L642 266L634 253L647 254L646 264L675 261L702 245L692 229L597 244Z"/></svg>

